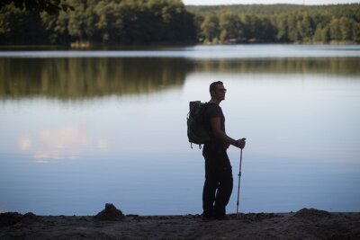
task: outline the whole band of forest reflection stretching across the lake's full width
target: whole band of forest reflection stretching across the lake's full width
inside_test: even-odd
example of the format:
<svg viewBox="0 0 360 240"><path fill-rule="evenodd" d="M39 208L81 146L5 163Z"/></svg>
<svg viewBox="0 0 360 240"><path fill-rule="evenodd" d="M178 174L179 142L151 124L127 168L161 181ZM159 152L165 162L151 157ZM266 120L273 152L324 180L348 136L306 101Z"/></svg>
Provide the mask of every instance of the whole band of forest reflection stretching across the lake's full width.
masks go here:
<svg viewBox="0 0 360 240"><path fill-rule="evenodd" d="M0 97L62 100L146 94L192 72L359 76L358 58L0 58Z"/></svg>

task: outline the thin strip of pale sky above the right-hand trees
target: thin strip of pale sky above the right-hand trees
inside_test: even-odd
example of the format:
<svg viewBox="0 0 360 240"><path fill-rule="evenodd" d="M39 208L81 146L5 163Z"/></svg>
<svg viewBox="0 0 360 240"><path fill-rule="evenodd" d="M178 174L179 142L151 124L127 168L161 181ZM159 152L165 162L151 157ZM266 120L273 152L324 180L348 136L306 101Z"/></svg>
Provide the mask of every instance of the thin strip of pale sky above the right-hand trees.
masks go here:
<svg viewBox="0 0 360 240"><path fill-rule="evenodd" d="M360 0L183 0L185 5L216 4L360 4Z"/></svg>

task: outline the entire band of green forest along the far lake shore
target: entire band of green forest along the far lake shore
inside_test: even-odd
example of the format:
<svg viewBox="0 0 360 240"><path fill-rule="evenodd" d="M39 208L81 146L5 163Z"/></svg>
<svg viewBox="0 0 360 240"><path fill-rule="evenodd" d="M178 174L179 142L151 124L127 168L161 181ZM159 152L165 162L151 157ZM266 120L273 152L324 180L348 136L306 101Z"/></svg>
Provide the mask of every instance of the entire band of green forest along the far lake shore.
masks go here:
<svg viewBox="0 0 360 240"><path fill-rule="evenodd" d="M67 0L63 9L51 12L4 3L3 46L360 42L360 4L196 6L181 0Z"/></svg>

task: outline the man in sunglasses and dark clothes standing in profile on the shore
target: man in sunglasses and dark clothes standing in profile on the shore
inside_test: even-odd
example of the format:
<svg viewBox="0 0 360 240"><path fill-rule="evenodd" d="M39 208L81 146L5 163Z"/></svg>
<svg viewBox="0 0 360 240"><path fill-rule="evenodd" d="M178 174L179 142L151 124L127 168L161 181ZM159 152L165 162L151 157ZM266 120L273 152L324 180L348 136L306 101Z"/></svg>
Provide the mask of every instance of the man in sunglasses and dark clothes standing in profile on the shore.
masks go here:
<svg viewBox="0 0 360 240"><path fill-rule="evenodd" d="M202 219L227 219L226 205L232 191L232 169L227 154L229 145L244 148L245 138L235 140L225 132L225 117L219 106L225 100L226 89L222 82L210 84L211 100L206 108L205 118L214 137L202 149L205 158L205 182L202 191Z"/></svg>

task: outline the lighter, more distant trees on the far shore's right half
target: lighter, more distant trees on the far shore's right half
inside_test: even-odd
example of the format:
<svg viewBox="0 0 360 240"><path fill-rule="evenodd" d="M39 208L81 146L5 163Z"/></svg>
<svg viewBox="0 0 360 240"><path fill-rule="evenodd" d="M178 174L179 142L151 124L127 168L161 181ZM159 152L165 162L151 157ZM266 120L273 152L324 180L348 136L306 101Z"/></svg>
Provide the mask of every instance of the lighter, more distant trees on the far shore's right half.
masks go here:
<svg viewBox="0 0 360 240"><path fill-rule="evenodd" d="M205 42L360 42L360 4L190 7Z"/></svg>

